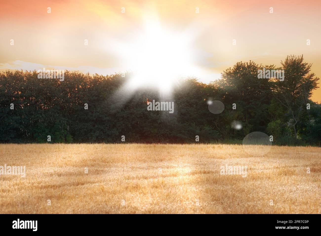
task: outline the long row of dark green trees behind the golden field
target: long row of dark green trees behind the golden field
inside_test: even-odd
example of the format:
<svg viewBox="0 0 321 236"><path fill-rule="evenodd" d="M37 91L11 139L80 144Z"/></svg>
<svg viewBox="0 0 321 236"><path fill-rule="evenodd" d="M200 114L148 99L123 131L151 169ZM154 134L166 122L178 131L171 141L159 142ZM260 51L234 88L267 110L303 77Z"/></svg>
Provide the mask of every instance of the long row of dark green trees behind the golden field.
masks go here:
<svg viewBox="0 0 321 236"><path fill-rule="evenodd" d="M200 143L241 143L260 131L273 135L273 144L320 146L321 106L310 100L319 78L303 55L287 56L281 65L238 62L209 84L180 78L165 99L174 102L172 114L147 109L148 101L164 101L157 88L126 88L131 72L65 71L63 81L38 78L37 71L0 72L0 142L47 143L49 135L51 143L119 143L122 136L195 143L198 135ZM263 69L284 70L285 79L258 76ZM209 111L214 100L225 106L220 114Z"/></svg>

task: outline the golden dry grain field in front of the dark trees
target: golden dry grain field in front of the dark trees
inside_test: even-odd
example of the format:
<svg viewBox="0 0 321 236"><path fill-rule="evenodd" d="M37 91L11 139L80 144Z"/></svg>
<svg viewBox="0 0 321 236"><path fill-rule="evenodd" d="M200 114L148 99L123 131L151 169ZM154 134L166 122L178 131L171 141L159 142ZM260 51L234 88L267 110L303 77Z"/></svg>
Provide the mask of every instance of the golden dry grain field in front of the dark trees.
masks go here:
<svg viewBox="0 0 321 236"><path fill-rule="evenodd" d="M321 213L321 148L8 144L4 164L26 177L0 175L0 213ZM225 164L247 177L220 175Z"/></svg>

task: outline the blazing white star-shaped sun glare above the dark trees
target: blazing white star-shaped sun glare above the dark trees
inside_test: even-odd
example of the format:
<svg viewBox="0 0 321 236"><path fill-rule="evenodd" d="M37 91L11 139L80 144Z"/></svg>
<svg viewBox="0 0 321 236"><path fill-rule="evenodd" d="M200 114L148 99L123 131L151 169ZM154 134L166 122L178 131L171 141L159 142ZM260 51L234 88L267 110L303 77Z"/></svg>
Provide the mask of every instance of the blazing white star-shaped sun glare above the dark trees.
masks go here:
<svg viewBox="0 0 321 236"><path fill-rule="evenodd" d="M128 87L148 84L162 93L169 93L175 81L184 75L194 75L197 67L190 50L191 37L162 27L157 19L148 19L137 37L122 43L118 55L126 68L134 72Z"/></svg>

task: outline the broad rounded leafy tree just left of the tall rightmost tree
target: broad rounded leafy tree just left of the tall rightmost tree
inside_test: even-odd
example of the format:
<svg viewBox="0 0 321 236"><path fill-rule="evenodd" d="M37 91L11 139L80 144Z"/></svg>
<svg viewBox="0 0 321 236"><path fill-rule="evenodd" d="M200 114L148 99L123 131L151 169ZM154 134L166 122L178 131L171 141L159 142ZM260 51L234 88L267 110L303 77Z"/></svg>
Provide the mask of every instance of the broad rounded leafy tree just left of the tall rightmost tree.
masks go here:
<svg viewBox="0 0 321 236"><path fill-rule="evenodd" d="M262 65L253 61L238 62L233 68L226 69L221 79L214 81L211 86L219 91L217 97L222 99L225 105L224 120L237 119L243 125L243 134L247 135L252 131L265 131L268 123L267 108L272 97L272 83L269 78L258 78L258 70ZM232 104L237 106L232 110ZM222 114L224 116L224 114ZM230 135L230 123L221 126L225 135ZM235 132L235 130L233 130Z"/></svg>

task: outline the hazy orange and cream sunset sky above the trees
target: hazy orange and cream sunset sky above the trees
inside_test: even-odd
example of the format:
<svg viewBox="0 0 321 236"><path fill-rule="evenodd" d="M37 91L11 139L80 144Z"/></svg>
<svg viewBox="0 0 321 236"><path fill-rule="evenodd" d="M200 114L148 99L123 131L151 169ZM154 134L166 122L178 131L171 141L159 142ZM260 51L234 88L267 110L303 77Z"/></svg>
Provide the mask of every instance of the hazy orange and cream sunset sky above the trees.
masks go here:
<svg viewBox="0 0 321 236"><path fill-rule="evenodd" d="M303 54L321 77L320 7L318 0L1 1L0 70L106 75L149 63L151 71L173 65L208 83L239 61L281 66ZM155 61L168 49L180 56ZM320 103L321 88L312 100Z"/></svg>

